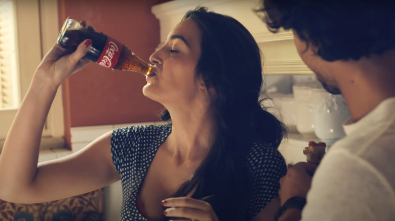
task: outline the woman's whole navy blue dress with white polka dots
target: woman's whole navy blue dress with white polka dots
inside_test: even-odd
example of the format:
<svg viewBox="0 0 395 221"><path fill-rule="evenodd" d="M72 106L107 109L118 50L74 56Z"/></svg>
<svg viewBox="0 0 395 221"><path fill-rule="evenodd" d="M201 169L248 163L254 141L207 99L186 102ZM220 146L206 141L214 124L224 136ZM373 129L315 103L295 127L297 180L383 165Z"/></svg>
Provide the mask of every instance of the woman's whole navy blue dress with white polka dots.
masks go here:
<svg viewBox="0 0 395 221"><path fill-rule="evenodd" d="M111 154L121 176L123 192L121 220L147 220L137 209L137 193L157 149L171 133L171 126L130 126L113 130ZM246 162L253 177L253 196L241 216L249 220L278 196L279 180L286 174L287 167L279 151L259 144L251 148Z"/></svg>

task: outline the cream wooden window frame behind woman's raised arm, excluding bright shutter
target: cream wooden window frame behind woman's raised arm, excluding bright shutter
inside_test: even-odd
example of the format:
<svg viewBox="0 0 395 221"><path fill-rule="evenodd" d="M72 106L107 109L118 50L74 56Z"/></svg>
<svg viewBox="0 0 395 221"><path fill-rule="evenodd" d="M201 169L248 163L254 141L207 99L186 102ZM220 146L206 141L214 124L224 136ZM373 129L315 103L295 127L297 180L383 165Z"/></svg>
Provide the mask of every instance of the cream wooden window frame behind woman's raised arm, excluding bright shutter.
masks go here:
<svg viewBox="0 0 395 221"><path fill-rule="evenodd" d="M20 100L26 94L34 71L59 33L57 0L15 0L17 23L18 79ZM15 118L17 108L0 110L0 149ZM64 116L61 87L43 129L41 149L64 147Z"/></svg>

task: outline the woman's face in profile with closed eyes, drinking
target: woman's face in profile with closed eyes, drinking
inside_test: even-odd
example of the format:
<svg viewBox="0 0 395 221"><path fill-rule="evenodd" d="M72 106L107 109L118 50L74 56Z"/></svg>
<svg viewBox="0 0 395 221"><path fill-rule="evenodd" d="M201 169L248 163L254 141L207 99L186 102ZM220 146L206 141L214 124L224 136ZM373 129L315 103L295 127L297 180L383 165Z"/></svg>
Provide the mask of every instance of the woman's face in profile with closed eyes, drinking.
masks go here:
<svg viewBox="0 0 395 221"><path fill-rule="evenodd" d="M206 89L195 80L195 68L201 56L201 31L192 19L180 22L166 43L151 57L156 68L146 77L145 96L168 105L183 105L201 99ZM203 96L204 97L204 96Z"/></svg>

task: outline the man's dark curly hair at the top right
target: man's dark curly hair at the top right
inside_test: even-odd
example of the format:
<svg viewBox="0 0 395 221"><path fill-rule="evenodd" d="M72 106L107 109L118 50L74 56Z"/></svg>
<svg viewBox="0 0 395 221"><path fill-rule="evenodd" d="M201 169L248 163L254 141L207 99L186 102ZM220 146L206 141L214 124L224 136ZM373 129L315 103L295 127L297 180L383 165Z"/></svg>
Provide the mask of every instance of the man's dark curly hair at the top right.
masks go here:
<svg viewBox="0 0 395 221"><path fill-rule="evenodd" d="M326 61L359 60L395 48L393 0L262 0L272 32L293 29Z"/></svg>

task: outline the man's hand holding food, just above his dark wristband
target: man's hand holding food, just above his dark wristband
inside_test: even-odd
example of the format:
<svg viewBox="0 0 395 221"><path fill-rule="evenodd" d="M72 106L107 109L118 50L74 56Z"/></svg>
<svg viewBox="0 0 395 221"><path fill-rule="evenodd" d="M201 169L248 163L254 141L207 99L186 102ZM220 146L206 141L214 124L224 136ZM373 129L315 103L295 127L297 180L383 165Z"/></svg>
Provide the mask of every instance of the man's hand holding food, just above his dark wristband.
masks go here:
<svg viewBox="0 0 395 221"><path fill-rule="evenodd" d="M288 169L287 174L280 179L281 205L293 196L306 197L316 169L317 165L308 162L298 162Z"/></svg>

